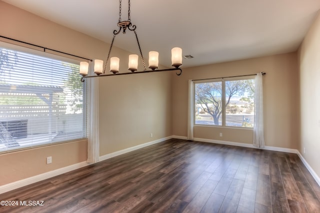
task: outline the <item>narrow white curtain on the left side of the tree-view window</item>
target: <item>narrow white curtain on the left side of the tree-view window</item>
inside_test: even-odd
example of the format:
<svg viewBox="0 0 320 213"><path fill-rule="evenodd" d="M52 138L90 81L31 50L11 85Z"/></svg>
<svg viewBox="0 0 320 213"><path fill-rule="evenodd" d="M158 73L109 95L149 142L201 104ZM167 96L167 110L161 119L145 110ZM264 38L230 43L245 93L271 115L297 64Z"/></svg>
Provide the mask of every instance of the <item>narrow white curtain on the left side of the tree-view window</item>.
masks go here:
<svg viewBox="0 0 320 213"><path fill-rule="evenodd" d="M192 80L188 81L188 124L187 124L187 138L193 140L193 123L194 123L194 99L193 99L193 86Z"/></svg>

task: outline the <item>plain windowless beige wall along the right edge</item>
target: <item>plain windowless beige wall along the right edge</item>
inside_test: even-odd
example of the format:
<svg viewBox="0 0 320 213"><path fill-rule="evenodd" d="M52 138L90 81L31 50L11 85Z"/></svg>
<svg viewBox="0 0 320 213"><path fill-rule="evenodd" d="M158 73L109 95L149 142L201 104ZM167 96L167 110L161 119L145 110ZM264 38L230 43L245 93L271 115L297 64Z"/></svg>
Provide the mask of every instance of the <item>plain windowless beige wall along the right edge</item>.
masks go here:
<svg viewBox="0 0 320 213"><path fill-rule="evenodd" d="M306 34L298 53L301 129L298 150L320 176L320 14Z"/></svg>

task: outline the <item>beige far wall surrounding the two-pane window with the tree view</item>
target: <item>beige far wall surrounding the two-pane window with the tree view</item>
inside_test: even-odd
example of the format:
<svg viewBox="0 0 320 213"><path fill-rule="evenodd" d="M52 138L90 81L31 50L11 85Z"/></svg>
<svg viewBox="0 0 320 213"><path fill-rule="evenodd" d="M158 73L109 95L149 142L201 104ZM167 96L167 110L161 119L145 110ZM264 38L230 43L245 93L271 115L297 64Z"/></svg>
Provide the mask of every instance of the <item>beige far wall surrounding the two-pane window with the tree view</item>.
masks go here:
<svg viewBox="0 0 320 213"><path fill-rule="evenodd" d="M266 72L263 76L264 139L266 146L297 149L296 53L183 69L173 78L173 135L187 135L187 81ZM223 137L219 137L219 133ZM194 127L194 137L252 144L252 130Z"/></svg>

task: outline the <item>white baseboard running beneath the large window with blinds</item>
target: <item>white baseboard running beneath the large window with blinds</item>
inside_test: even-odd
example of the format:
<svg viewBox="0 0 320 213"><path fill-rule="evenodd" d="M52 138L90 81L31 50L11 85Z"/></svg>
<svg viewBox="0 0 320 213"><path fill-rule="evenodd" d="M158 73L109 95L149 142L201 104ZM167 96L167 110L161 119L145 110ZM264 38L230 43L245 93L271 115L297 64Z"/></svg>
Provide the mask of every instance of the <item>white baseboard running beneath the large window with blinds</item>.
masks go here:
<svg viewBox="0 0 320 213"><path fill-rule="evenodd" d="M86 161L0 186L0 194L89 165Z"/></svg>

